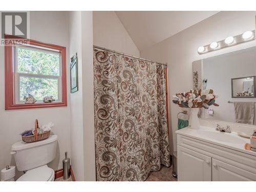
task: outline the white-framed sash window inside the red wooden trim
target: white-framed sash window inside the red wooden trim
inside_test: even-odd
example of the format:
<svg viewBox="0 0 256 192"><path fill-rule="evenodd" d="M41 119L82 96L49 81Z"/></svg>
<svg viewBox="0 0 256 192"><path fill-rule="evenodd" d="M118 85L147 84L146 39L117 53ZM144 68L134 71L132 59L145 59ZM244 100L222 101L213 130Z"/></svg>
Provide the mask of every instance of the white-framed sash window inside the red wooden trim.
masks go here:
<svg viewBox="0 0 256 192"><path fill-rule="evenodd" d="M61 101L60 53L41 48L15 46L16 103L24 103L31 94L42 102L45 96Z"/></svg>

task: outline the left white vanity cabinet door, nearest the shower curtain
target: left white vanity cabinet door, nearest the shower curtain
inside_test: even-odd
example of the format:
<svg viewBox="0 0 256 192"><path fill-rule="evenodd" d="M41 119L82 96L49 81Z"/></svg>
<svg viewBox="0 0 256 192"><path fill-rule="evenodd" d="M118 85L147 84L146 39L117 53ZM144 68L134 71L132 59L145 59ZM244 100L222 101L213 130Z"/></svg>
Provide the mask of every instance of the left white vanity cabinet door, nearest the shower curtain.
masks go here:
<svg viewBox="0 0 256 192"><path fill-rule="evenodd" d="M178 181L211 181L211 158L178 145Z"/></svg>

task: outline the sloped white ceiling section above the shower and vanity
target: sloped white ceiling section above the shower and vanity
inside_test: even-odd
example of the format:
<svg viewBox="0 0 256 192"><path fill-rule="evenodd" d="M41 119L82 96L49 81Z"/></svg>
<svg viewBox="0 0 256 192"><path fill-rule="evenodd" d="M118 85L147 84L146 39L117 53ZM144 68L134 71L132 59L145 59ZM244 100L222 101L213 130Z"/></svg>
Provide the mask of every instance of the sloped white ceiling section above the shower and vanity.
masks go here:
<svg viewBox="0 0 256 192"><path fill-rule="evenodd" d="M140 51L195 25L218 11L116 11Z"/></svg>

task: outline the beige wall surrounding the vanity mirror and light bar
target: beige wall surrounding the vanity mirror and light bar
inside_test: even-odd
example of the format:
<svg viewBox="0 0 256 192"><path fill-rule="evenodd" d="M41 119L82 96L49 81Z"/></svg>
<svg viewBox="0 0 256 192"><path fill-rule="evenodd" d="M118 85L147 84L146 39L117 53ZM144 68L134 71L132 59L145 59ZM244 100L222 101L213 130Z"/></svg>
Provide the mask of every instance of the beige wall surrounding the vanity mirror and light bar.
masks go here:
<svg viewBox="0 0 256 192"><path fill-rule="evenodd" d="M255 29L255 11L221 11L202 22L169 37L159 44L141 51L141 57L168 63L169 100L174 134L174 150L177 150L177 113L180 108L172 102L172 95L193 88L192 62L255 45L255 41L223 50L199 55L199 46L207 45L231 35ZM221 70L221 69L220 69ZM221 93L218 93L221 96Z"/></svg>

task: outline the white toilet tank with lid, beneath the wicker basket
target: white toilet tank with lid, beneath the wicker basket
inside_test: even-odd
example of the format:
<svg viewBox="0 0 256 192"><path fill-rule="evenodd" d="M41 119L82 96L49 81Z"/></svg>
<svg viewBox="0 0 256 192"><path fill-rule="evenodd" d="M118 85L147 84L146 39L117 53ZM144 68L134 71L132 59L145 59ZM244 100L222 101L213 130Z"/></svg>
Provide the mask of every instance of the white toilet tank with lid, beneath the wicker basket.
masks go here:
<svg viewBox="0 0 256 192"><path fill-rule="evenodd" d="M48 139L33 143L16 142L12 145L11 154L14 155L17 169L24 171L53 161L56 147L57 135L50 135Z"/></svg>

